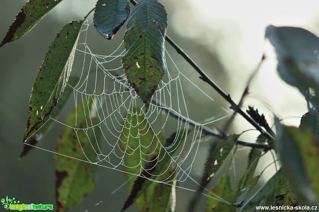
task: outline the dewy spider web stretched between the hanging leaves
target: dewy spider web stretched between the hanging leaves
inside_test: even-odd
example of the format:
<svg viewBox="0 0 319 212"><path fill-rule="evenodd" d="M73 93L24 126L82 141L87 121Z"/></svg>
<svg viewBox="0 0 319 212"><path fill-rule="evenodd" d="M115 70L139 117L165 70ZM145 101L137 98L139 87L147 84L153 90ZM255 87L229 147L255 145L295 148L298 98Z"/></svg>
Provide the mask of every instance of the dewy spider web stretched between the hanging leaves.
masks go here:
<svg viewBox="0 0 319 212"><path fill-rule="evenodd" d="M74 86L67 85L73 90L73 109L77 108L79 103L83 103L84 108L89 108L89 113L85 113L86 127L79 126L77 115L72 125L51 116L48 120L72 128L77 138L80 138L81 133L88 135L89 130L93 130L94 135L101 136L94 136L93 140L87 137L92 151L96 154L94 159L86 156L84 148L82 151L87 160L62 155L136 176L141 176L143 172L148 173L152 177L148 179L154 182L172 185L175 182L191 180L199 185L190 175L202 142L202 128L226 118L230 113L223 110L219 118L213 117L204 123L194 121L189 115L185 89L192 86L209 102L214 102L214 99L178 68L167 50L167 72L153 95L148 111L145 112L143 102L128 84L122 70L121 58L125 53L123 42L108 55L94 54L87 42L90 26L92 27L92 22L85 23L77 46L75 57L81 66L77 69L73 65L72 68L72 75L79 77L78 83ZM98 120L97 123L94 123L93 119ZM136 123L132 124L132 120ZM123 133L124 131L127 133ZM163 138L168 138L172 133L175 133L176 137L170 145L165 146ZM150 134L152 138L147 141L141 140L140 138L144 138L146 134ZM182 136L183 134L185 136ZM181 137L182 139L179 139ZM138 140L138 143L132 144L130 139ZM80 140L78 141L80 145ZM129 164L126 158L130 158L136 151L140 154L140 160L134 165ZM165 157L170 157L169 163L162 172L152 174L151 169L164 160L161 151L166 153ZM170 154L171 151L174 151L173 155ZM154 155L157 157L151 157ZM147 167L147 164L154 161L156 162L152 167ZM167 175L168 170L172 168L176 168L174 173ZM195 192L182 186L177 187ZM216 199L226 202L218 196Z"/></svg>

